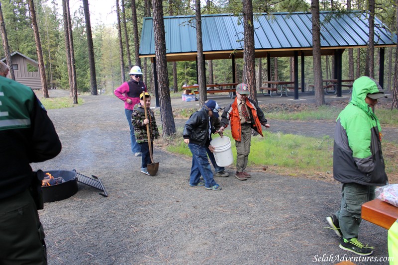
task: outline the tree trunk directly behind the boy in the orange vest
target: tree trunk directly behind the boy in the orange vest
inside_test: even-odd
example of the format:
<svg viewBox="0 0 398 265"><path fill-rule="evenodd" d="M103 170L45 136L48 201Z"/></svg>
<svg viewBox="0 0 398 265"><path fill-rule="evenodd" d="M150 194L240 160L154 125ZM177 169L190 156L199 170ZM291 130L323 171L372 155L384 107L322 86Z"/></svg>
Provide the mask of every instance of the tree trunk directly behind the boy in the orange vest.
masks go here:
<svg viewBox="0 0 398 265"><path fill-rule="evenodd" d="M256 59L254 55L254 21L252 0L243 0L244 49L243 65L246 84L250 89L250 97L257 102L256 90Z"/></svg>

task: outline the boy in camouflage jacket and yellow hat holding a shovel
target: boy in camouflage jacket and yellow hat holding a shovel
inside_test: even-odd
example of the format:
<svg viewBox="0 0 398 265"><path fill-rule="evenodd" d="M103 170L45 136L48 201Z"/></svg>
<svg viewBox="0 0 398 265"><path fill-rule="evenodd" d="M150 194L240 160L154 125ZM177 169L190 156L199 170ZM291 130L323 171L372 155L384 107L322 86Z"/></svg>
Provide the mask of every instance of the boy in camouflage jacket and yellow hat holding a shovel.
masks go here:
<svg viewBox="0 0 398 265"><path fill-rule="evenodd" d="M131 116L131 123L134 125L134 134L142 153L141 172L151 175L148 172L148 164L152 164L153 140L159 137L158 126L156 125L155 113L151 106L151 95L148 92L140 94L140 103L135 104ZM145 112L147 111L147 115ZM149 126L147 126L149 124ZM147 131L149 128L149 132ZM149 143L150 138L150 143Z"/></svg>

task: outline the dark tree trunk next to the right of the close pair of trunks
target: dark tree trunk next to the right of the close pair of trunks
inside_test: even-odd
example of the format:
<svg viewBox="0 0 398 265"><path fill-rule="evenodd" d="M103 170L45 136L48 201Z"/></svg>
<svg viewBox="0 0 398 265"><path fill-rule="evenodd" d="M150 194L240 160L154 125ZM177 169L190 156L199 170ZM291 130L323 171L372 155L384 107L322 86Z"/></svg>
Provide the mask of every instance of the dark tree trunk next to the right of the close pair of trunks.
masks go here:
<svg viewBox="0 0 398 265"><path fill-rule="evenodd" d="M89 67L90 67L90 86L91 94L97 95L97 75L96 75L96 63L94 60L94 44L93 35L91 33L91 21L90 21L90 10L89 0L83 0L84 17L86 20L86 32L87 32L87 47L89 50Z"/></svg>

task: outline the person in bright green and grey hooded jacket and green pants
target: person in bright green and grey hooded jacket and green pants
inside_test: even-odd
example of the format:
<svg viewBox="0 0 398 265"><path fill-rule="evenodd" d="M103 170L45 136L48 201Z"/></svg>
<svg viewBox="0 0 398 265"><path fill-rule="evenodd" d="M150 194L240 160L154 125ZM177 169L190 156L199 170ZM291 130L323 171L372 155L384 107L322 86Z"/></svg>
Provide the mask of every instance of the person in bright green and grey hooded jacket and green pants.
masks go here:
<svg viewBox="0 0 398 265"><path fill-rule="evenodd" d="M326 220L341 237L340 248L361 256L374 249L358 241L361 206L375 198L376 186L388 182L381 127L374 112L382 97L387 96L372 78L355 80L351 101L337 117L334 132L333 177L342 183L342 199L340 209Z"/></svg>

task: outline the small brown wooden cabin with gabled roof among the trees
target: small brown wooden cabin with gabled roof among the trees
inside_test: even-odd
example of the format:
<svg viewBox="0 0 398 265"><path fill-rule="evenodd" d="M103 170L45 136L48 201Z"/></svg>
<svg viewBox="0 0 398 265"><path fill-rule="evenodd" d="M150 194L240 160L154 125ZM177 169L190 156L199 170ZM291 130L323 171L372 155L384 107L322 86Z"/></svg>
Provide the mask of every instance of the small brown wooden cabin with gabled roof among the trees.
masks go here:
<svg viewBox="0 0 398 265"><path fill-rule="evenodd" d="M5 58L1 59L1 62L6 63ZM42 88L38 62L19 52L11 54L11 62L15 81L32 89ZM10 77L9 74L7 77Z"/></svg>

